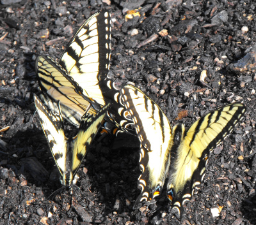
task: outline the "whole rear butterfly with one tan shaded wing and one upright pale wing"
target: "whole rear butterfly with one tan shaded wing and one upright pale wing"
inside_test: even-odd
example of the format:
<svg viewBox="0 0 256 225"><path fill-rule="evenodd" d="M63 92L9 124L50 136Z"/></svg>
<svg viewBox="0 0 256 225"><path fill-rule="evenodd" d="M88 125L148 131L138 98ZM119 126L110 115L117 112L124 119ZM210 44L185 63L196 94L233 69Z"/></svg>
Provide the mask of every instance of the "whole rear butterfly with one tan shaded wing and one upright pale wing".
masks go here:
<svg viewBox="0 0 256 225"><path fill-rule="evenodd" d="M51 57L40 55L36 59L36 72L43 93L41 97L45 104L48 104L49 96L52 101L60 100L61 113L65 119L79 126L81 116L86 110L86 100L90 99L102 106L108 102L111 103L107 114L109 120L118 127L119 131L127 131L125 128L132 123L132 120L127 117L129 113L120 103L120 92L108 77L110 39L111 18L109 12L95 13L81 25L70 40L59 63L52 60ZM68 81L76 82L77 89L79 89L78 91L76 89L76 94L73 90L67 89L73 85L67 82L67 78ZM88 99L81 98L79 96L81 94ZM99 110L99 107L94 104L93 107L95 108L95 106L96 110ZM89 113L95 114L95 110L91 108ZM114 132L117 134L117 129L114 129Z"/></svg>

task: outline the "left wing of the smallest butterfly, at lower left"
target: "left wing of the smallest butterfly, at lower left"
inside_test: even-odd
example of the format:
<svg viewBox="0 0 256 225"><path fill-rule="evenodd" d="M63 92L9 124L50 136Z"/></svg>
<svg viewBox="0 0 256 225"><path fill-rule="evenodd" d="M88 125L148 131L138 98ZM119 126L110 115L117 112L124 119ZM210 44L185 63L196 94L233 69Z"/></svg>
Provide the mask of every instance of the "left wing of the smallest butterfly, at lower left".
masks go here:
<svg viewBox="0 0 256 225"><path fill-rule="evenodd" d="M56 105L56 112L48 112L36 95L34 95L34 101L52 156L62 176L66 168L67 138L64 134L60 106Z"/></svg>

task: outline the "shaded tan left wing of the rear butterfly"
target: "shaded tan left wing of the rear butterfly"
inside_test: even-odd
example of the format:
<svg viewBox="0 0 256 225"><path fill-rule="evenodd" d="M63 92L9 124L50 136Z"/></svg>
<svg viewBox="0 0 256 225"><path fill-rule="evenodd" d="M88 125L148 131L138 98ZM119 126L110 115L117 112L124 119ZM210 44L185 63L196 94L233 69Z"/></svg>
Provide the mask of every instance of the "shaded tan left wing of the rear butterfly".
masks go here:
<svg viewBox="0 0 256 225"><path fill-rule="evenodd" d="M95 108L100 108L92 99L82 94L83 89L51 57L38 56L36 72L42 91L41 98L44 99L45 104L53 111L57 109L58 113L58 108L54 107L52 102L60 101L63 117L72 124L79 126L81 117L90 103ZM90 107L89 113L95 114L96 110Z"/></svg>

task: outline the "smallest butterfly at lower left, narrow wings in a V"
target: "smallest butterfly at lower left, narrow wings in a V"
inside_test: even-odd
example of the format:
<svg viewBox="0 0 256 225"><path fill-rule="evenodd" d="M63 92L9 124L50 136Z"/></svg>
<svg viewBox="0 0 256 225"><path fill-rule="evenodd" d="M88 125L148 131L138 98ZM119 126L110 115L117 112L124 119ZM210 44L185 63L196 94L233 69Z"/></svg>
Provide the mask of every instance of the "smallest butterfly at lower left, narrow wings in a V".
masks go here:
<svg viewBox="0 0 256 225"><path fill-rule="evenodd" d="M97 134L109 104L95 115L84 113L77 135L67 138L64 134L60 103L52 103L56 110L49 112L36 95L34 101L52 156L61 174L61 184L70 186L90 143Z"/></svg>

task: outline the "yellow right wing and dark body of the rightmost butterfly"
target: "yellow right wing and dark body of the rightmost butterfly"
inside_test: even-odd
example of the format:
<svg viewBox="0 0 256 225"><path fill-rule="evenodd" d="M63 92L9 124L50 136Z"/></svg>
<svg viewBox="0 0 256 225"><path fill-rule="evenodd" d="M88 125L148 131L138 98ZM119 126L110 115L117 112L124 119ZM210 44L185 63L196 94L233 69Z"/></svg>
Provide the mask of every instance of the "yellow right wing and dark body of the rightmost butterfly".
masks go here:
<svg viewBox="0 0 256 225"><path fill-rule="evenodd" d="M183 212L183 204L191 199L193 189L204 179L209 153L232 132L245 111L243 104L234 103L208 113L187 132L180 124L173 127L172 136L177 137L179 143L171 152L174 161L170 167L167 193L178 217Z"/></svg>

